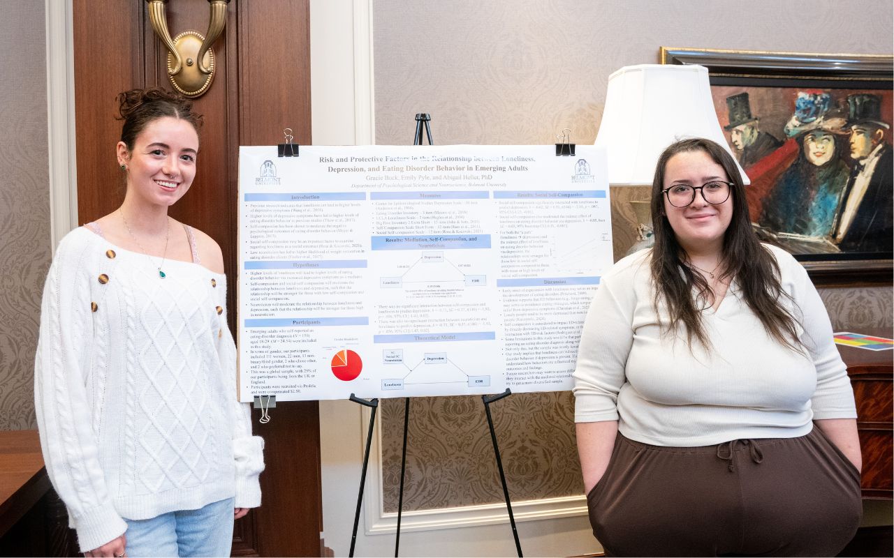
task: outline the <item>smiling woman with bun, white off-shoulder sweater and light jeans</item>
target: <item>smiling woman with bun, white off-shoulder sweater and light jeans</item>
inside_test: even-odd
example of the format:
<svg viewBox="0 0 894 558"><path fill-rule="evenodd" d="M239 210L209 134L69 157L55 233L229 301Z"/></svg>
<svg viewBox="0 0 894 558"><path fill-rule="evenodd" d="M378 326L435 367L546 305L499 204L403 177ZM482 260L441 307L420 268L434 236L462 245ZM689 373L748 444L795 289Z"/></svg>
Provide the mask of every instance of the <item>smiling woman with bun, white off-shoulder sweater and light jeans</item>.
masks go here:
<svg viewBox="0 0 894 558"><path fill-rule="evenodd" d="M263 440L236 397L220 246L174 220L201 117L161 89L118 96L126 180L46 278L35 405L46 471L88 556L229 556L260 505Z"/></svg>

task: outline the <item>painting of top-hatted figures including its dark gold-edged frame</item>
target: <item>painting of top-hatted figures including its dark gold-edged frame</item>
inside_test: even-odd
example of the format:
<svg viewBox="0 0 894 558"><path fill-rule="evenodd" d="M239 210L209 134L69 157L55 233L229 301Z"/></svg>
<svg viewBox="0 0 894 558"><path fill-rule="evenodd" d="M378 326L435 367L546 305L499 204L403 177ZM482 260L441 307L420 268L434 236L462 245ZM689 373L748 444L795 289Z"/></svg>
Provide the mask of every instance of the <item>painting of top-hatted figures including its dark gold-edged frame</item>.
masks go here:
<svg viewBox="0 0 894 558"><path fill-rule="evenodd" d="M661 48L708 69L757 235L823 283L890 282L894 56Z"/></svg>

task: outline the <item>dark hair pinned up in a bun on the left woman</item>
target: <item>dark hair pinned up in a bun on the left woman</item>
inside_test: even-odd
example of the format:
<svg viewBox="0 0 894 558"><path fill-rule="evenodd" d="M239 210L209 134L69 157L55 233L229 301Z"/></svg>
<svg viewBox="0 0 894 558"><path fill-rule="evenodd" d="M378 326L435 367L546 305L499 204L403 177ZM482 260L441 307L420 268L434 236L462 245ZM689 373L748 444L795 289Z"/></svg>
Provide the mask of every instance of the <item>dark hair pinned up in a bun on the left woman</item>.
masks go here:
<svg viewBox="0 0 894 558"><path fill-rule="evenodd" d="M119 120L124 121L121 129L121 141L127 150L133 149L139 133L156 119L170 116L190 122L198 130L202 127L202 116L192 112L192 102L173 91L151 87L148 89L131 89L118 94Z"/></svg>

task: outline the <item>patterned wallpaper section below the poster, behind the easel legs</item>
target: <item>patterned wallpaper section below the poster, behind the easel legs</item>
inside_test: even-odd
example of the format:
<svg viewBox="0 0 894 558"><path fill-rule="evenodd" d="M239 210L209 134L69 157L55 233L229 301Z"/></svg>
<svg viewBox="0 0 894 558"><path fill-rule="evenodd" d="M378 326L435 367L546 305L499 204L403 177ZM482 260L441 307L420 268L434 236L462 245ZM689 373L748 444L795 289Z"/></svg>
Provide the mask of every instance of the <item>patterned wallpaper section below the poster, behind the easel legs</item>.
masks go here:
<svg viewBox="0 0 894 558"><path fill-rule="evenodd" d="M404 399L384 399L383 493L397 511ZM515 394L491 404L513 501L582 491L571 392ZM479 396L410 399L404 509L502 502L502 486ZM549 474L544 474L549 471Z"/></svg>

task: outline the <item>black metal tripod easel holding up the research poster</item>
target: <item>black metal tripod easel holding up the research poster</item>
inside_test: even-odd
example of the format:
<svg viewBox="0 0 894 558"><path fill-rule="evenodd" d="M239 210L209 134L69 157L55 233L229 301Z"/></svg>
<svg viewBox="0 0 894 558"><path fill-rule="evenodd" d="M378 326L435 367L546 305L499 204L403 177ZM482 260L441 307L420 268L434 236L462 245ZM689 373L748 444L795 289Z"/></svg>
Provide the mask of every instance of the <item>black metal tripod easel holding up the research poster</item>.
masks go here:
<svg viewBox="0 0 894 558"><path fill-rule="evenodd" d="M416 115L416 137L413 140L414 146L421 146L423 136L422 130L425 129L426 136L428 137L428 145L432 145L432 130L429 127L429 122L432 120L432 117L427 112L419 112ZM512 503L509 497L509 487L506 485L506 474L503 472L502 468L502 460L500 459L500 447L497 445L497 435L495 430L493 429L493 419L491 417L491 407L495 401L499 401L503 397L510 396L512 392L507 387L506 391L502 392L502 394L498 394L496 396L481 396L481 400L485 404L485 414L487 415L487 426L491 431L491 441L493 442L493 454L496 456L497 461L497 470L500 471L500 482L502 483L503 489L503 497L506 499L506 509L509 511L509 521L512 527L512 537L515 539L515 549L519 554L519 558L522 558L521 554L521 543L519 542L519 531L515 527L515 517L512 515ZM378 408L379 400L373 399L371 401L367 401L366 399L360 399L354 394L350 395L350 400L354 403L358 403L372 409L372 412L369 417L369 429L367 431L367 449L363 454L363 468L360 473L360 489L357 495L357 511L354 512L354 530L350 536L350 553L348 554L350 558L354 556L354 546L357 542L357 529L360 521L360 507L363 502L363 488L366 484L367 480L367 464L369 463L369 448L372 444L373 440L373 425L375 424L375 410ZM409 429L409 397L404 398L403 405L403 447L401 449L401 490L400 496L398 497L398 505L397 505L397 537L394 540L394 558L397 558L398 551L401 546L401 516L403 514L403 480L404 474L407 471L407 432Z"/></svg>

